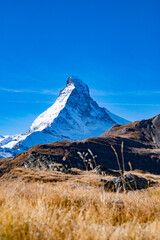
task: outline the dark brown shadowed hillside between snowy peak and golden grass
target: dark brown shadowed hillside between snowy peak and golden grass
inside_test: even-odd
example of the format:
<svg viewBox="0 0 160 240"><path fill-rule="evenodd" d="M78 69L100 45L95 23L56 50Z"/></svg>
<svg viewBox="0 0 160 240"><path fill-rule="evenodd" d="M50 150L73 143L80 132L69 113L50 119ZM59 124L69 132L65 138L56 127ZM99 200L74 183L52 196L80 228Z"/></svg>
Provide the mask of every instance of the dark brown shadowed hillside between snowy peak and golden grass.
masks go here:
<svg viewBox="0 0 160 240"><path fill-rule="evenodd" d="M95 167L97 164L119 170L111 146L117 151L122 169L121 146L123 142L125 170L132 168L133 170L140 169L160 174L159 124L160 115L124 126L115 125L100 137L82 141L59 141L37 145L8 160L8 163L5 163L5 159L2 160L0 171L1 174L9 171L8 166L10 166L10 169L13 166L33 166L37 168L39 165L47 166L52 163L60 163L67 168L76 167L80 169L86 169L86 164L88 169ZM79 153L85 157L85 161L82 160ZM92 154L93 156L97 155L96 163Z"/></svg>

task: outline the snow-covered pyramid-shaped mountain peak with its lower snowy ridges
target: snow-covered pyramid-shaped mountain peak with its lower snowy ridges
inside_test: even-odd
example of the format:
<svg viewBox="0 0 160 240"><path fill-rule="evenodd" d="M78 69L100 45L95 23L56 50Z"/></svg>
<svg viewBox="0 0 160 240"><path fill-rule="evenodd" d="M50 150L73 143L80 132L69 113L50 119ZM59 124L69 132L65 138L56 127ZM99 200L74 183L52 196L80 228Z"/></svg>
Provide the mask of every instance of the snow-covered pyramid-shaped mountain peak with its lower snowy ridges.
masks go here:
<svg viewBox="0 0 160 240"><path fill-rule="evenodd" d="M69 77L55 103L35 119L27 133L0 138L0 156L13 156L36 144L99 136L114 124L126 123L100 107L82 80Z"/></svg>

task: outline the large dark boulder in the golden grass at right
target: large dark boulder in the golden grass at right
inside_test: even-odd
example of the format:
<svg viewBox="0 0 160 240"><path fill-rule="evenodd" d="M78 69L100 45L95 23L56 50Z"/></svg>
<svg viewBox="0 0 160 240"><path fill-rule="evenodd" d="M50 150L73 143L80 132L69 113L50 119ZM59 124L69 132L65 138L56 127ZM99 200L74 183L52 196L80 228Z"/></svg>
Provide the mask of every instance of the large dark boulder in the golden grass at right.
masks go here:
<svg viewBox="0 0 160 240"><path fill-rule="evenodd" d="M156 182L129 173L106 181L104 184L104 190L111 192L135 191L146 189L154 184L156 184Z"/></svg>

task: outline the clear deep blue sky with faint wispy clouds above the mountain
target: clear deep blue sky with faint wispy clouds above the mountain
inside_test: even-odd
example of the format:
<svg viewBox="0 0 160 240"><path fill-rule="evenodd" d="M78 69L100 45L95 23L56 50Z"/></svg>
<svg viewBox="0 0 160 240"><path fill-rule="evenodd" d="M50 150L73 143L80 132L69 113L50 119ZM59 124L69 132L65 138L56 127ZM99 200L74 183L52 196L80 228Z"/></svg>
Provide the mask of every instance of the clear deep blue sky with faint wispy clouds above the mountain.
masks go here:
<svg viewBox="0 0 160 240"><path fill-rule="evenodd" d="M160 113L159 0L5 0L0 29L0 135L27 131L70 75L131 121Z"/></svg>

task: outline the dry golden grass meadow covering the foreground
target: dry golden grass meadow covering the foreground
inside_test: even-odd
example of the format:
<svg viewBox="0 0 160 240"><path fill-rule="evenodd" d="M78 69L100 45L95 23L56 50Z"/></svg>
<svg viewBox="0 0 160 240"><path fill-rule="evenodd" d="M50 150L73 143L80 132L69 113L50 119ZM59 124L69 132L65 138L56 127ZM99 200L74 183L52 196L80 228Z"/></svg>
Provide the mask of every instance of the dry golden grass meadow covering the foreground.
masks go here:
<svg viewBox="0 0 160 240"><path fill-rule="evenodd" d="M97 183L100 176L77 173L18 168L5 174L0 180L0 239L160 239L159 186L106 193ZM160 181L160 176L146 175Z"/></svg>

